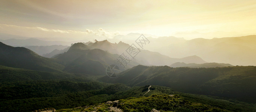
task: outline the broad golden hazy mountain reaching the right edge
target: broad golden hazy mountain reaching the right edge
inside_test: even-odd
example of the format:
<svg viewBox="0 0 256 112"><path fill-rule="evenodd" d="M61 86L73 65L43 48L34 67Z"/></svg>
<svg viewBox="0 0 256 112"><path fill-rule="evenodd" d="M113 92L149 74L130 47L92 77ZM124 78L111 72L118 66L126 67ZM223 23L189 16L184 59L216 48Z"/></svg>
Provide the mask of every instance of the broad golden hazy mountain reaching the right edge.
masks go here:
<svg viewBox="0 0 256 112"><path fill-rule="evenodd" d="M256 35L204 39L196 38L159 48L167 56L183 57L197 55L207 62L231 65L255 65ZM154 45L153 45L154 46Z"/></svg>

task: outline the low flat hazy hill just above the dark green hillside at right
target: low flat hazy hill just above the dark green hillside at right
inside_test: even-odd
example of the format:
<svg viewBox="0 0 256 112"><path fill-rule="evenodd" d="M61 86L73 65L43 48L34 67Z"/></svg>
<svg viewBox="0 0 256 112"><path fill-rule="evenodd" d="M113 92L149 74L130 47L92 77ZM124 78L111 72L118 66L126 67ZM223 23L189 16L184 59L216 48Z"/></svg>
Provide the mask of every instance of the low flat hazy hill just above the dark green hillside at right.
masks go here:
<svg viewBox="0 0 256 112"><path fill-rule="evenodd" d="M226 67L226 66L233 66L227 63L203 63L203 64L196 64L196 63L184 63L184 62L177 62L170 65L170 67L189 67L189 68L215 68L215 67Z"/></svg>

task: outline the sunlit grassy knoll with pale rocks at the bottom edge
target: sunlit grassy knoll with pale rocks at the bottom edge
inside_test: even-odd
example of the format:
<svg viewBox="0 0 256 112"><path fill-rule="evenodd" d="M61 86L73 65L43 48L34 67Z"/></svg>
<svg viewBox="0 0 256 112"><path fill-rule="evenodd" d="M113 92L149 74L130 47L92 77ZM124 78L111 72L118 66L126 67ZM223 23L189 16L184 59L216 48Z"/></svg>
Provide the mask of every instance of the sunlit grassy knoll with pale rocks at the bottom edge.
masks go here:
<svg viewBox="0 0 256 112"><path fill-rule="evenodd" d="M129 97L127 99L108 101L96 105L73 109L60 109L56 112L150 112L153 109L158 111L176 112L229 112L225 109L216 108L202 103L190 102L183 97L175 95L152 95L148 97Z"/></svg>

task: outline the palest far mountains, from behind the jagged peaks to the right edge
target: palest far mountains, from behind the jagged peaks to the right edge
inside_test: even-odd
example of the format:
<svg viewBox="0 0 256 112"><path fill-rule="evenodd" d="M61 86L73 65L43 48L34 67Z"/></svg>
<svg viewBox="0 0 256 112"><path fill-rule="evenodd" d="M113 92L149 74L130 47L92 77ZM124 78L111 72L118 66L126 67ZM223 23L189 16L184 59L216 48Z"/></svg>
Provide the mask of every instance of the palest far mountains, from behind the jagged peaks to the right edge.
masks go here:
<svg viewBox="0 0 256 112"><path fill-rule="evenodd" d="M135 43L141 34L118 35L111 42ZM199 56L206 62L230 63L231 65L255 65L256 35L225 38L195 38L185 40L177 37L153 38L145 35L150 44L144 47L172 58ZM130 39L132 38L132 39ZM170 65L170 64L169 64Z"/></svg>

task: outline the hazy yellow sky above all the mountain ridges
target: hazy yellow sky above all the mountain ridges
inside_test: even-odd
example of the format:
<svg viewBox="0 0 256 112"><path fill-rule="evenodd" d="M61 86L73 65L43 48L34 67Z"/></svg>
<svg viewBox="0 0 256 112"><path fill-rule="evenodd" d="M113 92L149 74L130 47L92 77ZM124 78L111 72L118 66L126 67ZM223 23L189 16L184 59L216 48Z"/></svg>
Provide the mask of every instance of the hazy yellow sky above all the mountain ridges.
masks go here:
<svg viewBox="0 0 256 112"><path fill-rule="evenodd" d="M104 40L143 33L193 38L256 34L256 0L0 0L0 33Z"/></svg>

